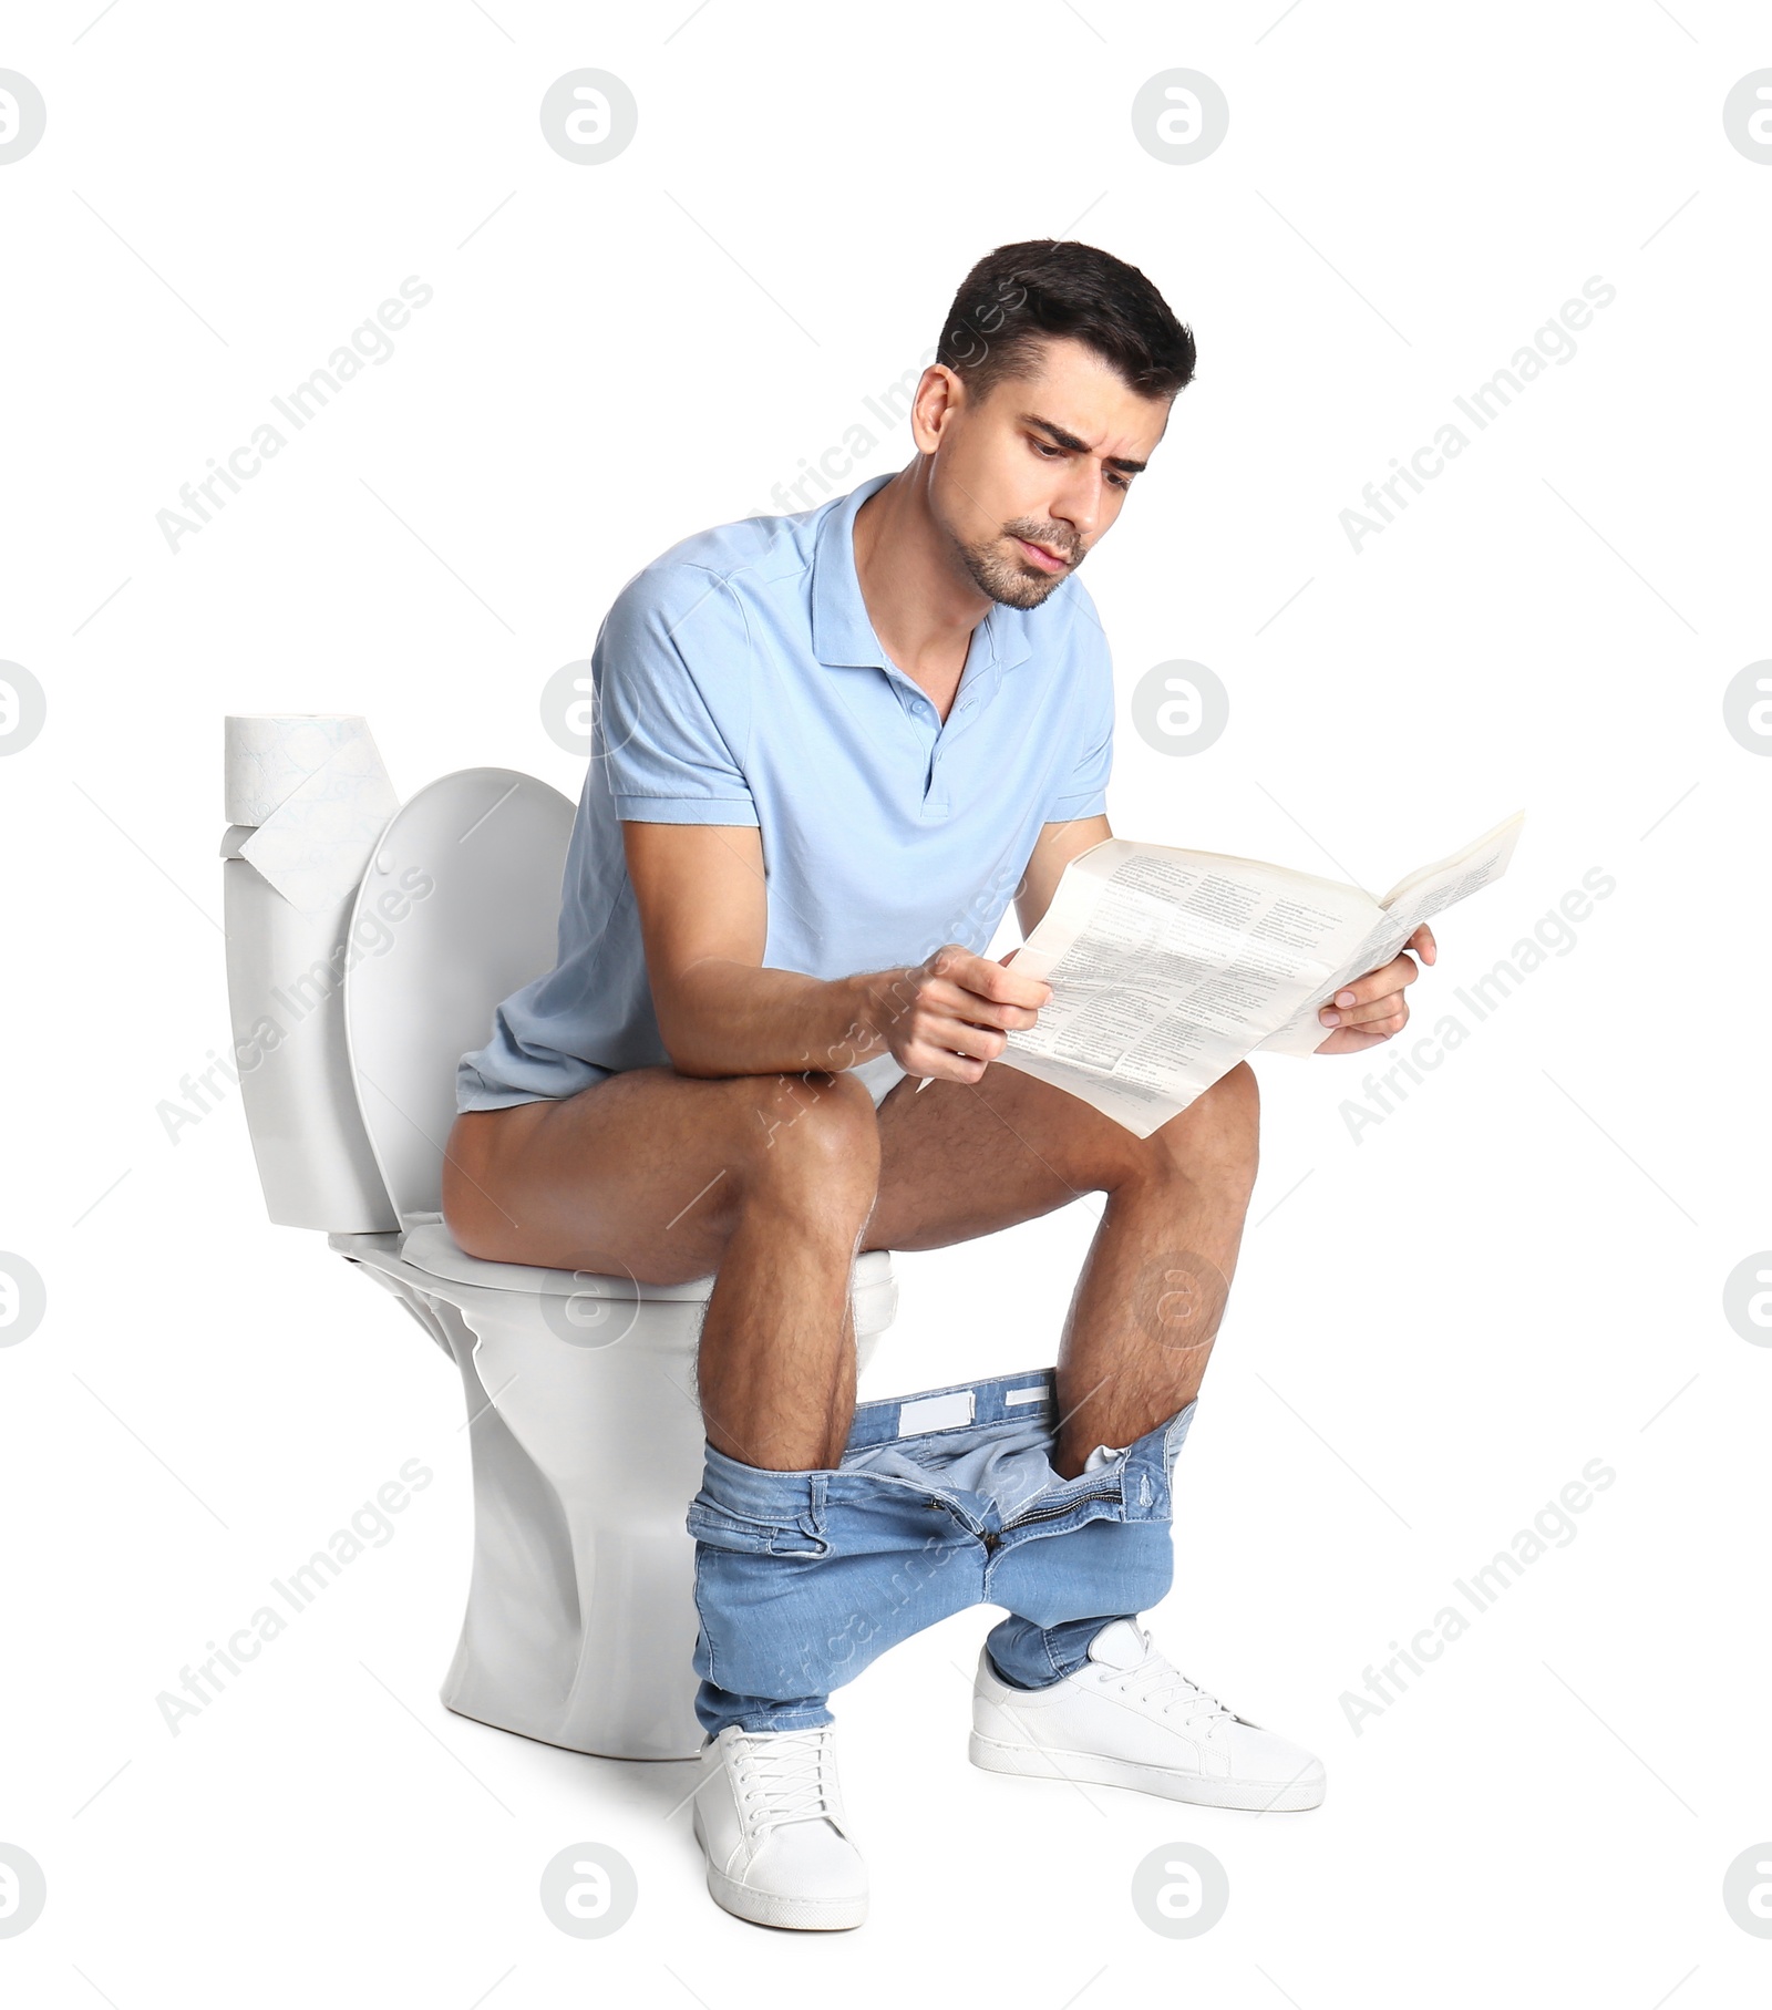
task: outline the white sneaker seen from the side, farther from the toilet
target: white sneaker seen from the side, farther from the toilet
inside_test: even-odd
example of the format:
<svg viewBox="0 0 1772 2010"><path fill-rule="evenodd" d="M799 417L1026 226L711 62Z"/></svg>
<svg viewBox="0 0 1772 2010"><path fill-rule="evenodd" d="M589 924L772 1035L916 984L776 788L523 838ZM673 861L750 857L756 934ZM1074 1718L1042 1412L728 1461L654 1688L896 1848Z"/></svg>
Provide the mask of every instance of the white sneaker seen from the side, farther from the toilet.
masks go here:
<svg viewBox="0 0 1772 2010"><path fill-rule="evenodd" d="M1131 1620L1103 1626L1087 1666L1047 1688L999 1680L980 1650L970 1755L988 1773L1137 1787L1205 1807L1268 1813L1324 1797L1320 1759L1232 1715Z"/></svg>

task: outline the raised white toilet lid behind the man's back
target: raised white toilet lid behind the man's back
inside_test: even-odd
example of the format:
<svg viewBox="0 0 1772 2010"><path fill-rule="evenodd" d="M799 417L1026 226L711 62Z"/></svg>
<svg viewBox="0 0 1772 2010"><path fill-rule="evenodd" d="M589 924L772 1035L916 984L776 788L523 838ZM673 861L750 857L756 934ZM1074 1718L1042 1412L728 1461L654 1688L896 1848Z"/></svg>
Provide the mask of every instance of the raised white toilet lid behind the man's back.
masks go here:
<svg viewBox="0 0 1772 2010"><path fill-rule="evenodd" d="M573 804L512 768L422 788L382 832L346 937L346 1045L400 1226L442 1212L456 1061L555 967Z"/></svg>

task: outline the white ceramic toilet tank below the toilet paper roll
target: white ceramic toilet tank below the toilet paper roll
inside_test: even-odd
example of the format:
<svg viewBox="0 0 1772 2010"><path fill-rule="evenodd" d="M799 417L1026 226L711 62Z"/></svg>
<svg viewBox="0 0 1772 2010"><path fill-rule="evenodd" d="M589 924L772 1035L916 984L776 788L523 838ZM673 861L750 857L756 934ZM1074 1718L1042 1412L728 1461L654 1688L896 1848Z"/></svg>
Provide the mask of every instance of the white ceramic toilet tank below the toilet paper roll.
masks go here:
<svg viewBox="0 0 1772 2010"><path fill-rule="evenodd" d="M400 1222L346 1051L356 888L336 907L293 907L239 854L251 834L233 824L221 840L221 904L233 1055L265 1208L285 1228L382 1234Z"/></svg>

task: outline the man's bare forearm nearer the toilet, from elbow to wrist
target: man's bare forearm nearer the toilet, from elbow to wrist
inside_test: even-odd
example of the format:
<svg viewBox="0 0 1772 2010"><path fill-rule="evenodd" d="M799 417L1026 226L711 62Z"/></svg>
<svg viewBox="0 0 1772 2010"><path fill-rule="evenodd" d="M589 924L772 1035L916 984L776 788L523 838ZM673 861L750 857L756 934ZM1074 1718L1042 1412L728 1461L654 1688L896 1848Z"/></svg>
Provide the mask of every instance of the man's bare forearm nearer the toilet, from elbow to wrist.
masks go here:
<svg viewBox="0 0 1772 2010"><path fill-rule="evenodd" d="M705 957L681 971L665 1051L679 1075L840 1073L886 1053L894 973L804 977Z"/></svg>

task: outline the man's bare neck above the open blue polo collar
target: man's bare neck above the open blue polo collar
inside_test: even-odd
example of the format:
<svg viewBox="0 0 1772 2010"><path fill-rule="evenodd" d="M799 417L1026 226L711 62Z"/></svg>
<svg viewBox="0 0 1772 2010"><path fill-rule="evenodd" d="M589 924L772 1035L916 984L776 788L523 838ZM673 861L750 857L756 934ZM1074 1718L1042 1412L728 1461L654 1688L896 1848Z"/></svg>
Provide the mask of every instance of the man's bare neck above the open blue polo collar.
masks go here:
<svg viewBox="0 0 1772 2010"><path fill-rule="evenodd" d="M946 720L972 629L990 611L928 507L930 458L918 454L856 511L856 579L880 645Z"/></svg>

